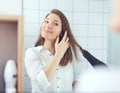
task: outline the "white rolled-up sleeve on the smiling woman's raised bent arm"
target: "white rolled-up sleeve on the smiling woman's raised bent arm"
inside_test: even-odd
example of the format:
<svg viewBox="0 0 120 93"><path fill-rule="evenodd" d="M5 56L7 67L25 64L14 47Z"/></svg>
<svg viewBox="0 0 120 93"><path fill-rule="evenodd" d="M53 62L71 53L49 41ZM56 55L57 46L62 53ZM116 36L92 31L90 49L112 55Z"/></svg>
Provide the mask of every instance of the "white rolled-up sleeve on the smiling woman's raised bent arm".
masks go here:
<svg viewBox="0 0 120 93"><path fill-rule="evenodd" d="M41 90L45 90L50 82L44 73L45 63L42 62L40 56L42 55L36 48L30 48L25 52L25 71L32 84L39 86Z"/></svg>

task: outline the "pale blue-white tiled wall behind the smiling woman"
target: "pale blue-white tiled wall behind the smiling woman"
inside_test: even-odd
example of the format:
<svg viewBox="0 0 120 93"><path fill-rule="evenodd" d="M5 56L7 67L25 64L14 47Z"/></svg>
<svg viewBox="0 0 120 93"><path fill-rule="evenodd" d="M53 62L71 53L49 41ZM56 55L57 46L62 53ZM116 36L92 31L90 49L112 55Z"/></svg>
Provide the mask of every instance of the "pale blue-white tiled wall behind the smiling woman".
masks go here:
<svg viewBox="0 0 120 93"><path fill-rule="evenodd" d="M53 8L67 16L79 44L107 63L109 0L23 0L25 50L33 47L44 16ZM25 74L25 90L30 90Z"/></svg>

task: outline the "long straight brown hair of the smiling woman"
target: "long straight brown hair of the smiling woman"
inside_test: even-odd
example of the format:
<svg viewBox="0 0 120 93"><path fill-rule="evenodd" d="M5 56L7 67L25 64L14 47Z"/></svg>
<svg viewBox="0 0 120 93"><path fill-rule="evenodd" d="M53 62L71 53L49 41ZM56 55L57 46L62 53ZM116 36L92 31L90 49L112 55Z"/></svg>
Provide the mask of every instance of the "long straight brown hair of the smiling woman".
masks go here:
<svg viewBox="0 0 120 93"><path fill-rule="evenodd" d="M61 31L61 34L60 34L60 40L63 38L63 35L64 35L65 31L67 31L67 36L69 37L69 41L70 41L71 46L67 49L67 51L65 52L65 54L64 54L64 56L61 59L60 64L59 64L61 66L66 66L68 64L68 62L72 62L73 55L75 55L75 58L78 60L78 58L79 58L78 48L80 49L81 52L82 52L82 48L76 42L76 40L75 40L75 38L74 38L74 36L71 32L71 28L70 28L70 25L69 25L69 22L68 22L66 16L60 10L57 10L57 9L51 10L51 12L49 14L56 14L61 19L62 31ZM47 16L49 14L47 14ZM35 46L39 46L39 45L43 45L43 44L44 44L44 38L40 34Z"/></svg>

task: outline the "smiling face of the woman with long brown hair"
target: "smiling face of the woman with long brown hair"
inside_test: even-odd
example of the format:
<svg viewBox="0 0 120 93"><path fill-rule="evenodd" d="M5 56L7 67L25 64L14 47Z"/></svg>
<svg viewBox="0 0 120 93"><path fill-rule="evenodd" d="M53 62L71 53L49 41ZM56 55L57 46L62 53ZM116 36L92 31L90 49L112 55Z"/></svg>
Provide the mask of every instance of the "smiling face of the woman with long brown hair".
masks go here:
<svg viewBox="0 0 120 93"><path fill-rule="evenodd" d="M54 41L62 31L62 23L58 15L48 15L41 27L41 35L45 40Z"/></svg>

